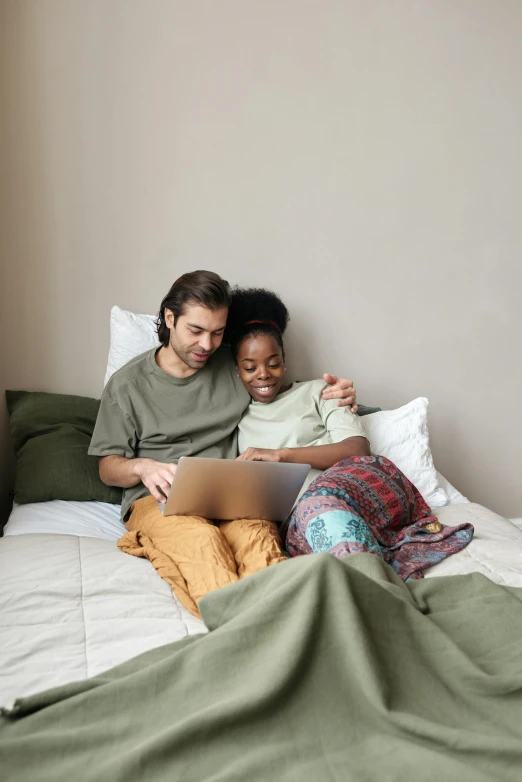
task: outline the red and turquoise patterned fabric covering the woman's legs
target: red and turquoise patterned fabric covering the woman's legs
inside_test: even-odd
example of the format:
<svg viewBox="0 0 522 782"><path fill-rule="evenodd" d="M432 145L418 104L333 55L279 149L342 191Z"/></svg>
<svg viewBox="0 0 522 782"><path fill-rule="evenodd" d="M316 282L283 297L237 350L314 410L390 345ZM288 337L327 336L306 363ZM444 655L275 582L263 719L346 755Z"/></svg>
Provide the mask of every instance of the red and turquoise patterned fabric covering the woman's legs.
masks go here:
<svg viewBox="0 0 522 782"><path fill-rule="evenodd" d="M286 548L292 557L376 554L406 581L463 549L473 531L442 526L389 459L353 456L310 484L290 517Z"/></svg>

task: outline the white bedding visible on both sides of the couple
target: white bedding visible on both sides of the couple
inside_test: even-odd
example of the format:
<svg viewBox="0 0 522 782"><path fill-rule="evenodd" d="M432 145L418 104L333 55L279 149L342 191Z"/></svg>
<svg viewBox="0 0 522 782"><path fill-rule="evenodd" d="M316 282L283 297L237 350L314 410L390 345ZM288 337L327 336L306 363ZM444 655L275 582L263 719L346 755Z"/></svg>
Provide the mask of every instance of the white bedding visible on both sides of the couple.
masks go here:
<svg viewBox="0 0 522 782"><path fill-rule="evenodd" d="M427 577L480 572L522 587L522 530L439 475L445 524L472 543ZM143 559L120 552L119 507L54 500L14 507L0 540L0 704L96 676L149 649L206 632Z"/></svg>

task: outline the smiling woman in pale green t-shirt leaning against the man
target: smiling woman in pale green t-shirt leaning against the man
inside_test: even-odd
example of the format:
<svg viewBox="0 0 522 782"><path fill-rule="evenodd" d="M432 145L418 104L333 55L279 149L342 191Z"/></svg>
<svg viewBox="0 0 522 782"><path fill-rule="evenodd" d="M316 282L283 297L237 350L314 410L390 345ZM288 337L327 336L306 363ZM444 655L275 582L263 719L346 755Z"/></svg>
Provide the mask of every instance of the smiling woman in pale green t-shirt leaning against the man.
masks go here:
<svg viewBox="0 0 522 782"><path fill-rule="evenodd" d="M285 384L283 302L236 289L228 316L232 352L252 402L239 425L239 459L310 464L284 532L291 556L376 554L406 580L464 548L470 524L442 527L389 460L371 456L359 418L321 399L324 381ZM321 472L325 471L325 472Z"/></svg>

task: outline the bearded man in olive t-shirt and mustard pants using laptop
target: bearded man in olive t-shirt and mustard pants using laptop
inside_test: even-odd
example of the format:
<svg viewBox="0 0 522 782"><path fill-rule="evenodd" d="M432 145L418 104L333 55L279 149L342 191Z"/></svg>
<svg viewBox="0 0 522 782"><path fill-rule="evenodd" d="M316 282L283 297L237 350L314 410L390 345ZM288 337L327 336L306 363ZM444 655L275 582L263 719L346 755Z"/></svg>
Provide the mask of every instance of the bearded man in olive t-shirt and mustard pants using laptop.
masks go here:
<svg viewBox="0 0 522 782"><path fill-rule="evenodd" d="M184 274L163 299L161 342L116 372L103 392L89 453L100 477L124 489L120 548L152 561L195 615L204 594L285 559L272 522L238 519L218 527L159 510L181 456L234 459L237 425L250 402L228 346L221 346L231 295L214 272ZM327 396L355 402L350 381Z"/></svg>

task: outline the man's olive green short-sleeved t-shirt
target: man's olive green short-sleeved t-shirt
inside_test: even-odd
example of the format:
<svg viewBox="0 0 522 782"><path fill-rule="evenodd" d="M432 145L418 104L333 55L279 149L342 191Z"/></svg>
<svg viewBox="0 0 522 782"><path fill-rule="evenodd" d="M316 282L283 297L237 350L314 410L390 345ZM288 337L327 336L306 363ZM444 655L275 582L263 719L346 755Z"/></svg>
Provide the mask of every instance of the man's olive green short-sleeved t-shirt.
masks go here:
<svg viewBox="0 0 522 782"><path fill-rule="evenodd" d="M237 377L230 348L218 348L203 369L183 378L160 369L155 354L156 349L143 353L111 377L89 453L165 463L181 456L234 459L237 425L250 396ZM125 489L122 518L147 494L143 483Z"/></svg>

